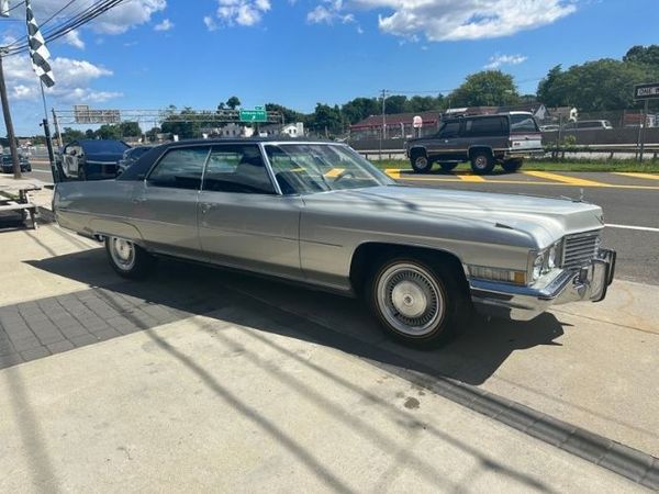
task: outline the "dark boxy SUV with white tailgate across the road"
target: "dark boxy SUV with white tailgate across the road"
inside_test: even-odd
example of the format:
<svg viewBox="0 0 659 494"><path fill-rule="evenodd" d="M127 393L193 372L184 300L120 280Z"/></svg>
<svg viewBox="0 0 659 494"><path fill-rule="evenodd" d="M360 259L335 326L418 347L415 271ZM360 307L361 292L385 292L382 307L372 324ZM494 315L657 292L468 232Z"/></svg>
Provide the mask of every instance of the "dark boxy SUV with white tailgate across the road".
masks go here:
<svg viewBox="0 0 659 494"><path fill-rule="evenodd" d="M445 120L435 135L407 141L406 153L417 173L435 162L450 171L463 161L471 161L474 173L489 173L498 162L516 171L524 158L544 153L541 139L530 113L463 116Z"/></svg>

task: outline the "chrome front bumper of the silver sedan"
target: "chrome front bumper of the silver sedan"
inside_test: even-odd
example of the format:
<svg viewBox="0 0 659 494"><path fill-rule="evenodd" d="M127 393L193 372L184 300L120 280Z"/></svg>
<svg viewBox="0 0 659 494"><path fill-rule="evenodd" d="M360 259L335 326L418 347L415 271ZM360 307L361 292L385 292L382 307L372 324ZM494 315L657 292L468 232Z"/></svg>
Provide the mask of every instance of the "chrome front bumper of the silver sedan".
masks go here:
<svg viewBox="0 0 659 494"><path fill-rule="evenodd" d="M600 302L615 273L615 250L601 249L579 271L560 271L543 288L520 287L485 280L470 280L471 300L485 316L529 321L551 305L568 302Z"/></svg>

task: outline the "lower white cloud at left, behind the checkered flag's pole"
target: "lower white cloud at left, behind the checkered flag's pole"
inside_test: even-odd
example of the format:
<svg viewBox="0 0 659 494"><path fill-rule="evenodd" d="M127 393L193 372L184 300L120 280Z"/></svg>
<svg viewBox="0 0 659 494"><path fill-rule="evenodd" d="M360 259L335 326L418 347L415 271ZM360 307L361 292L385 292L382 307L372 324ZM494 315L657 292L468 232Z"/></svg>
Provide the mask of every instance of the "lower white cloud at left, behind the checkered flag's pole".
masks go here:
<svg viewBox="0 0 659 494"><path fill-rule="evenodd" d="M111 70L87 60L57 57L52 61L55 86L46 89L52 104L99 103L123 96L115 91L98 91L90 83L101 77L112 75ZM22 101L38 101L41 89L27 56L12 56L4 60L7 86L11 98Z"/></svg>

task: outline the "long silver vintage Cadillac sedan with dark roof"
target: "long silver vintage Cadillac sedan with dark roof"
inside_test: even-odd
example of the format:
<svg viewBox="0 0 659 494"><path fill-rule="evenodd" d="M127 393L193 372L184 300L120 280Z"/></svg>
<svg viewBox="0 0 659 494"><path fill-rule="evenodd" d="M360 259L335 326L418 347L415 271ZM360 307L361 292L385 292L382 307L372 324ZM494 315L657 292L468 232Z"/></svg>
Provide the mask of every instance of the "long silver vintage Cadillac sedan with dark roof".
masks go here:
<svg viewBox="0 0 659 494"><path fill-rule="evenodd" d="M362 296L384 330L421 346L472 311L526 321L599 302L615 267L596 205L405 187L325 142L166 144L116 180L58 183L54 211L102 239L122 277L163 257L275 276Z"/></svg>

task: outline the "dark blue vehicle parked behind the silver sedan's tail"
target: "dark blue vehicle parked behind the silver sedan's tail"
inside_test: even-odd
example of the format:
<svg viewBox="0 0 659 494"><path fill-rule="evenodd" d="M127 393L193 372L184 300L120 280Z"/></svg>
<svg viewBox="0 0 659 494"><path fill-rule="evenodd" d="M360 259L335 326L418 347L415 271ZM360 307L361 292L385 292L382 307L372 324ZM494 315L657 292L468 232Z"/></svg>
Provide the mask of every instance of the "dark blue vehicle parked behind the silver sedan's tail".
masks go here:
<svg viewBox="0 0 659 494"><path fill-rule="evenodd" d="M81 139L62 149L62 164L68 178L99 180L116 177L119 160L129 146L123 141Z"/></svg>

